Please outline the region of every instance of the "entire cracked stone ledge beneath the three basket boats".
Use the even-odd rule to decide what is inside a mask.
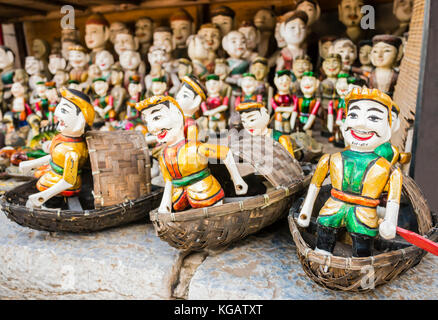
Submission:
[[[367,294],[319,287],[286,219],[221,252],[185,257],[140,224],[95,234],[40,232],[0,215],[2,299],[436,299],[438,257]]]

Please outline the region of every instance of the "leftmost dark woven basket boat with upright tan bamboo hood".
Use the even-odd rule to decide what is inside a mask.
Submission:
[[[6,216],[32,229],[74,233],[147,221],[148,212],[160,204],[163,189],[150,183],[150,157],[142,134],[90,131],[86,141],[90,163],[82,173],[83,210],[68,210],[60,197],[49,200],[50,208],[27,208],[28,196],[38,192],[34,179],[2,196]]]

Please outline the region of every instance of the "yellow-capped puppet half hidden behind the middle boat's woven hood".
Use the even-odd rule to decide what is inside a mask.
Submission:
[[[280,131],[269,129],[268,109],[261,102],[244,102],[236,107],[240,113],[242,125],[252,136],[270,136],[278,141],[295,158],[292,138]]]

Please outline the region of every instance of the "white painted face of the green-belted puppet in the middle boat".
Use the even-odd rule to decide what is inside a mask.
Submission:
[[[184,136],[184,118],[172,103],[158,104],[145,109],[142,119],[148,131],[157,137],[159,143],[172,145]]]

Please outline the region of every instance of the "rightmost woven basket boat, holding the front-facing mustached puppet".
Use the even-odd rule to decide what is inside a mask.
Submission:
[[[290,232],[297,247],[298,258],[306,274],[319,285],[333,290],[365,292],[388,283],[417,265],[426,251],[396,236],[393,240],[377,237],[374,255],[354,258],[348,240],[339,240],[331,257],[316,253],[316,217],[330,196],[330,186],[323,186],[315,204],[308,228],[301,228],[295,219],[304,200],[294,203],[288,217]],[[403,177],[402,200],[398,225],[438,241],[438,217],[431,214],[426,200],[414,180]],[[346,233],[344,234],[344,236]],[[342,238],[342,236],[341,236]],[[348,237],[347,237],[348,238]]]

